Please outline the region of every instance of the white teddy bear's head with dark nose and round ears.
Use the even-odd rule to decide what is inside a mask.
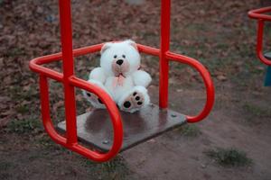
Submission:
[[[100,67],[108,76],[128,76],[140,67],[140,55],[133,40],[107,42],[100,54]]]

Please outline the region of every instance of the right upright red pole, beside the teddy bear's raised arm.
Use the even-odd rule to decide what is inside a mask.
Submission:
[[[161,1],[161,39],[160,39],[160,79],[159,79],[159,106],[168,106],[168,74],[169,59],[166,53],[170,49],[171,0]]]

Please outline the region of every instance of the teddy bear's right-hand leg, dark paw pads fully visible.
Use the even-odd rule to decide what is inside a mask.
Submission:
[[[135,86],[120,98],[117,105],[120,110],[133,113],[149,103],[150,97],[145,86]]]

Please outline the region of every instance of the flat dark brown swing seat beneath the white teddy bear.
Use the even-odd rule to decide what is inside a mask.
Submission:
[[[185,115],[150,104],[135,112],[120,112],[123,122],[123,144],[120,151],[152,139],[167,130],[173,130],[186,122]],[[94,109],[77,117],[78,138],[81,142],[101,152],[112,147],[113,127],[107,110]],[[66,121],[58,124],[58,130],[66,132]]]

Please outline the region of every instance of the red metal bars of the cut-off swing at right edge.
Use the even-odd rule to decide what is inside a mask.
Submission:
[[[264,26],[265,22],[271,21],[271,15],[266,13],[271,12],[270,7],[264,7],[256,10],[251,10],[248,12],[248,16],[253,19],[257,19],[257,57],[266,65],[271,66],[271,61],[268,60],[263,54],[263,36],[264,36]]]

